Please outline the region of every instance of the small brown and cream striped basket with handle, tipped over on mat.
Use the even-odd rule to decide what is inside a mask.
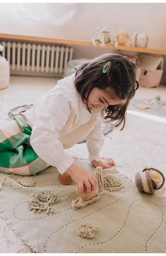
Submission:
[[[165,177],[158,169],[145,168],[136,173],[136,187],[141,192],[153,194],[165,184]]]

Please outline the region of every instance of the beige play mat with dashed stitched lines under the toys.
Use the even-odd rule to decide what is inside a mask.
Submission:
[[[87,160],[76,163],[94,171]],[[71,208],[77,198],[75,184],[59,184],[54,167],[32,177],[35,187],[23,187],[17,175],[6,177],[0,191],[1,217],[25,244],[25,252],[166,252],[165,199],[140,193],[134,182],[115,169],[103,171],[104,177],[110,174],[123,187],[104,190],[99,201],[78,210]],[[31,193],[48,190],[59,195],[59,202],[52,206],[54,213],[29,211]],[[97,228],[95,238],[77,235],[77,227],[84,222]]]

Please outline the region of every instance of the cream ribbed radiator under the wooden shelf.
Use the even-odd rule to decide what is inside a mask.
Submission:
[[[2,56],[10,64],[11,74],[62,77],[73,48],[39,43],[0,41]]]

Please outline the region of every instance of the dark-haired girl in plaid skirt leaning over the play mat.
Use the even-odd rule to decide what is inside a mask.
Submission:
[[[84,62],[59,80],[32,108],[0,129],[0,171],[35,175],[49,165],[69,174],[79,191],[95,189],[96,179],[78,167],[65,149],[86,138],[94,167],[114,166],[102,159],[102,118],[124,128],[129,101],[138,89],[136,64],[118,54]],[[122,129],[121,128],[121,129]]]

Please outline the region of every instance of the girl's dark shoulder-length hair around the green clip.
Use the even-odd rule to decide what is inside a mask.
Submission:
[[[102,69],[107,62],[110,62],[109,68],[107,73],[103,73]],[[124,104],[109,105],[102,110],[102,118],[113,121],[115,127],[120,126],[121,123],[123,124],[121,130],[125,125],[126,108],[136,89],[138,89],[136,67],[136,62],[129,60],[128,57],[107,53],[93,60],[83,62],[76,69],[74,83],[87,108],[88,96],[95,87],[102,90],[107,89],[107,91],[112,88],[119,99],[125,100]],[[90,111],[89,108],[88,111]]]

